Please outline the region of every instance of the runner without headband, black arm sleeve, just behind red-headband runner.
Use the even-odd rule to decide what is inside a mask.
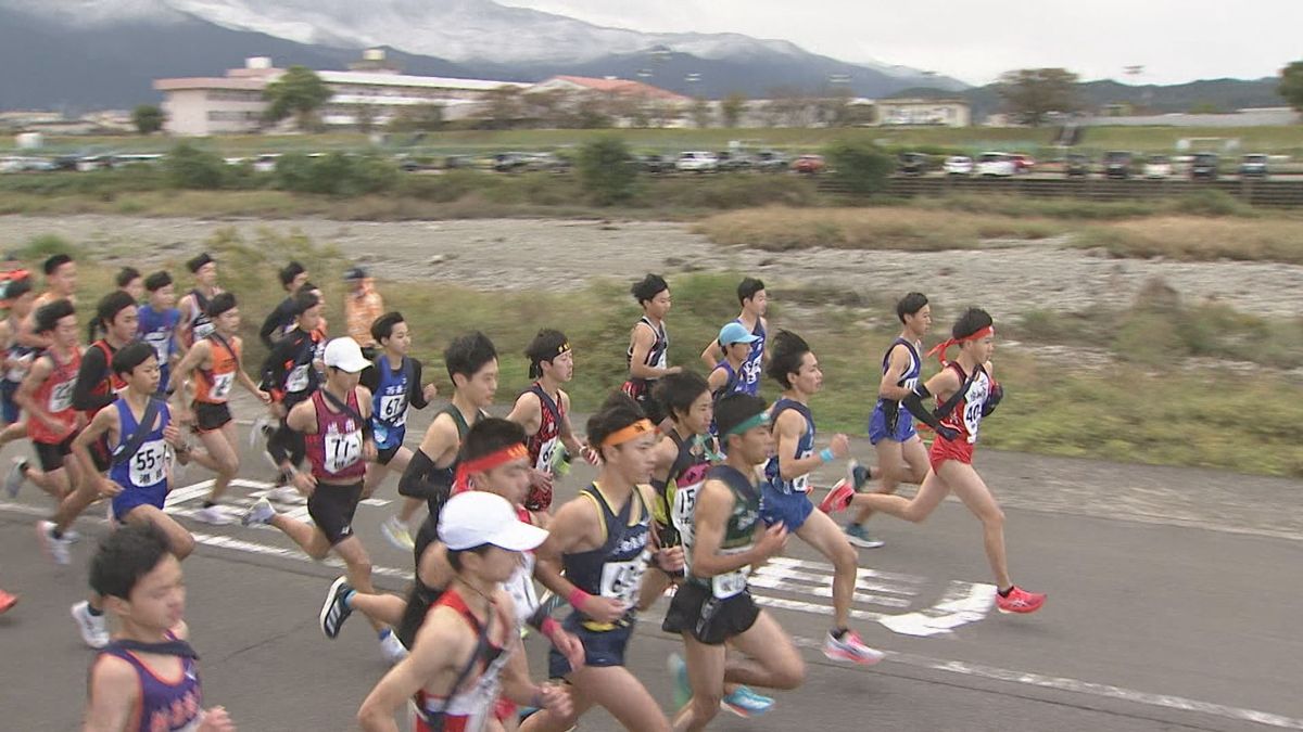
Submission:
[[[443,362],[452,380],[452,399],[434,415],[399,481],[400,495],[425,500],[430,511],[413,542],[417,561],[438,535],[439,508],[452,491],[461,440],[485,417],[498,392],[498,349],[483,333],[459,336],[443,352]]]

